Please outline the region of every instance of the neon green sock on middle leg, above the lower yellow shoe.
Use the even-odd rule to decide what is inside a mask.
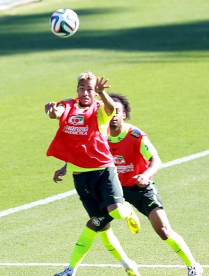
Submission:
[[[114,235],[111,227],[109,227],[109,229],[105,231],[98,232],[98,234],[100,235],[104,247],[107,248],[110,254],[112,254],[116,259],[120,261],[121,259],[126,262],[130,261],[130,259],[123,251],[118,238],[116,238],[116,236]]]

